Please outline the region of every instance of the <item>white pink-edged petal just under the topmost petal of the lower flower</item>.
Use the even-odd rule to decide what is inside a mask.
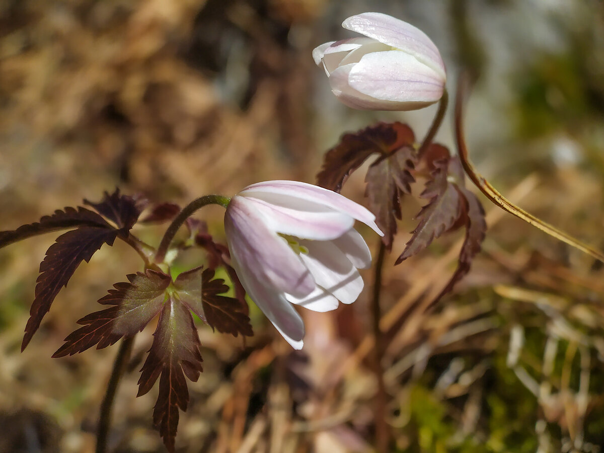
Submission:
[[[304,239],[330,240],[350,230],[355,219],[338,211],[312,212],[276,206],[258,198],[245,197],[265,217],[269,230]]]

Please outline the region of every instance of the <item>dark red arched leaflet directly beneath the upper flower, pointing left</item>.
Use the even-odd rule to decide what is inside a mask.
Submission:
[[[379,123],[342,136],[330,149],[316,175],[317,184],[339,192],[350,174],[373,153],[388,156],[402,147],[413,147],[413,130],[403,123]]]

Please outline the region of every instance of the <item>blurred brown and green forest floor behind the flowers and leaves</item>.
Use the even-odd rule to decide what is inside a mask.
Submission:
[[[116,186],[186,204],[266,179],[314,182],[342,133],[379,120],[406,121],[421,138],[434,107],[347,109],[312,61],[320,43],[352,36],[340,24],[364,11],[431,36],[452,94],[462,68],[477,77],[467,142],[495,187],[604,247],[604,5],[596,0],[2,0],[0,230]],[[451,119],[437,141],[454,149]],[[344,193],[362,203],[360,173]],[[428,313],[454,270],[461,233],[390,266],[420,208],[406,201],[382,300],[393,451],[602,451],[602,264],[483,203],[483,252]],[[222,208],[199,216],[223,236]],[[135,234],[156,243],[162,231]],[[51,355],[113,283],[141,268],[123,244],[103,247],[20,353],[53,239],[0,250],[2,453],[94,451],[117,347]],[[200,326],[204,373],[189,384],[178,451],[372,451],[371,279],[365,274],[352,306],[303,313],[301,352],[253,304],[255,336],[245,344]],[[118,390],[114,452],[164,451],[152,428],[156,393],[135,398],[152,332],[137,336]]]

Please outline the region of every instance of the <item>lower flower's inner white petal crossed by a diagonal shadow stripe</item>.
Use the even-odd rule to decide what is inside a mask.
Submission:
[[[301,240],[308,249],[300,258],[315,278],[317,286],[344,304],[353,303],[363,289],[363,279],[355,266],[332,241]]]

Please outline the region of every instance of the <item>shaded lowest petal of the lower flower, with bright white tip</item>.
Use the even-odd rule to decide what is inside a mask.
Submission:
[[[294,349],[302,349],[304,322],[284,294],[260,283],[253,274],[246,272],[248,269],[244,270],[236,259],[232,259],[231,263],[251,300]]]

